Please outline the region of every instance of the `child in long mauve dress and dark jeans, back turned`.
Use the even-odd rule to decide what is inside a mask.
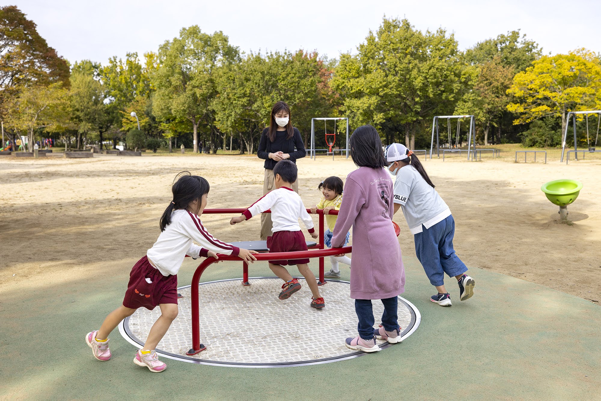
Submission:
[[[404,292],[405,271],[401,248],[392,225],[392,179],[382,141],[370,125],[359,127],[349,140],[350,155],[359,167],[346,177],[332,248],[343,246],[353,227],[353,259],[350,265],[350,298],[355,299],[359,335],[346,346],[365,352],[379,351],[376,338],[401,341],[398,295]],[[384,305],[382,326],[374,328],[372,299]]]

